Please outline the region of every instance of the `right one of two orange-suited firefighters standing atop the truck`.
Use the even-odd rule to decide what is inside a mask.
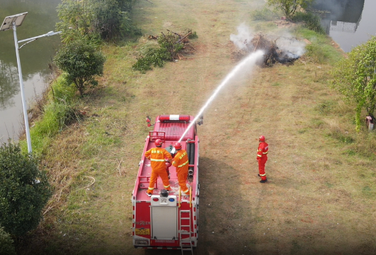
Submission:
[[[188,178],[188,155],[186,150],[181,149],[181,143],[175,143],[173,148],[178,151],[173,158],[172,165],[176,167],[176,175],[178,175],[178,183],[181,188],[181,195],[188,195],[188,187],[186,181]]]

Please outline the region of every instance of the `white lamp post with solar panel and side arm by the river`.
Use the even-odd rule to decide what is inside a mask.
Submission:
[[[32,148],[31,148],[30,129],[29,129],[29,126],[28,126],[27,104],[26,104],[25,93],[23,92],[22,70],[21,70],[21,62],[20,62],[20,56],[19,56],[18,50],[21,49],[23,47],[23,45],[26,45],[27,43],[31,43],[33,40],[36,40],[38,38],[42,38],[42,37],[45,37],[45,36],[57,35],[58,33],[61,33],[61,31],[59,31],[59,32],[50,31],[50,32],[45,33],[44,35],[41,35],[41,36],[36,36],[36,37],[33,37],[33,38],[24,39],[24,40],[17,40],[16,28],[18,26],[22,25],[23,19],[26,17],[26,14],[27,14],[27,12],[24,12],[24,13],[18,13],[16,15],[5,17],[4,22],[1,24],[0,31],[6,31],[6,30],[10,30],[10,29],[13,28],[14,45],[16,47],[16,57],[17,57],[17,66],[18,66],[18,77],[19,77],[19,80],[20,80],[20,88],[21,88],[23,119],[25,121],[25,129],[26,129],[26,141],[28,143],[28,153],[31,153]],[[26,43],[21,45],[21,47],[18,47],[18,43],[23,43],[23,42],[26,42]]]

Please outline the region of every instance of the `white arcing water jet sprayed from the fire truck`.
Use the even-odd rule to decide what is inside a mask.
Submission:
[[[237,64],[237,66],[235,66],[235,68],[225,77],[225,80],[223,80],[220,85],[217,87],[217,89],[215,89],[215,92],[212,94],[212,96],[208,99],[208,101],[206,101],[205,105],[200,109],[200,112],[198,112],[198,114],[195,116],[195,119],[193,119],[193,121],[190,122],[189,126],[187,127],[186,131],[184,131],[183,135],[181,136],[181,138],[179,139],[179,142],[181,142],[181,140],[183,139],[183,137],[187,134],[188,130],[190,129],[190,127],[195,124],[195,121],[197,121],[198,117],[203,114],[204,110],[206,107],[208,107],[208,105],[210,104],[210,102],[213,101],[213,99],[215,98],[215,96],[218,94],[218,92],[220,92],[220,89],[222,89],[222,87],[224,87],[227,82],[232,78],[234,77],[234,75],[242,69],[242,67],[245,67],[245,65],[247,64],[250,64],[250,65],[254,65],[256,63],[256,61],[262,57],[262,55],[264,54],[264,52],[262,50],[257,50],[256,52],[250,54],[247,58],[245,58],[244,60],[242,60],[242,62],[240,62],[239,64]]]

